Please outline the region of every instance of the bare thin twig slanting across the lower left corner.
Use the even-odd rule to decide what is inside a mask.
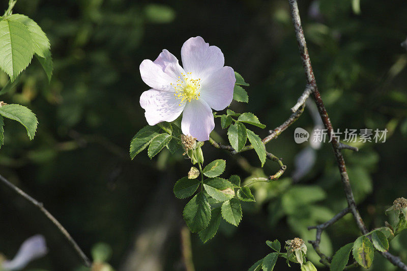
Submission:
[[[40,212],[42,212],[49,220],[50,222],[52,222],[52,224],[62,233],[62,235],[66,238],[66,240],[68,241],[68,243],[70,244],[70,246],[74,249],[74,251],[76,252],[77,256],[81,259],[81,261],[83,262],[83,264],[85,266],[90,267],[91,266],[91,262],[88,259],[88,257],[86,257],[86,255],[83,253],[83,251],[79,248],[78,244],[76,244],[75,240],[72,238],[72,236],[68,233],[68,231],[61,225],[61,223],[59,221],[57,221],[49,212],[47,209],[44,208],[43,204],[41,202],[38,202],[37,200],[35,200],[34,198],[32,198],[31,196],[27,195],[24,191],[22,191],[21,189],[19,189],[18,187],[16,187],[15,185],[13,185],[12,183],[10,183],[5,177],[3,177],[2,175],[0,175],[0,182],[3,185],[6,185],[8,188],[10,188],[11,190],[13,190],[13,192],[15,192],[19,197],[24,198],[26,201],[30,202],[31,204],[33,204],[34,206],[36,206]]]

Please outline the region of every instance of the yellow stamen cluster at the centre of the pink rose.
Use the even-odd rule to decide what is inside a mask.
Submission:
[[[181,99],[179,106],[185,102],[191,102],[192,100],[198,100],[200,96],[200,78],[192,79],[192,73],[183,74],[178,76],[178,80],[175,84],[171,83],[172,87],[175,89],[175,98]]]

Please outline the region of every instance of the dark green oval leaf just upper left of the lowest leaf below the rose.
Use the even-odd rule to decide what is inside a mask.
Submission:
[[[184,208],[184,219],[192,232],[198,232],[208,227],[211,221],[211,205],[207,197],[199,192]]]

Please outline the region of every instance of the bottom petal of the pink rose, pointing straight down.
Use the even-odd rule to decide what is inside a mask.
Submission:
[[[209,139],[215,128],[211,107],[201,99],[186,102],[182,116],[181,130],[185,135],[196,137],[198,141]]]

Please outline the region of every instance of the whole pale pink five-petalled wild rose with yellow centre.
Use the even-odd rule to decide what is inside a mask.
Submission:
[[[184,43],[181,59],[184,67],[165,49],[154,62],[144,59],[141,79],[152,89],[141,94],[140,105],[149,125],[172,122],[183,113],[183,134],[205,141],[215,127],[212,109],[223,110],[232,101],[235,72],[224,66],[222,51],[201,37]]]

